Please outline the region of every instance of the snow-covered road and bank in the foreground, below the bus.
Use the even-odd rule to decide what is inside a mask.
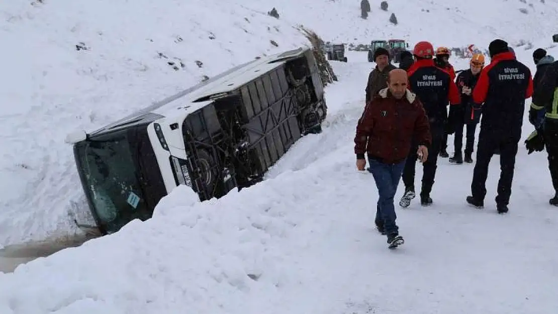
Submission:
[[[518,51],[532,65],[529,55]],[[491,207],[498,157],[484,210],[464,201],[473,165],[441,159],[434,205],[397,209],[406,243],[386,249],[373,178],[354,165],[365,58],[333,62],[324,132],[297,142],[266,181],[203,203],[178,187],[146,222],[0,274],[0,313],[554,312],[558,211],[545,153],[519,149],[507,215]]]

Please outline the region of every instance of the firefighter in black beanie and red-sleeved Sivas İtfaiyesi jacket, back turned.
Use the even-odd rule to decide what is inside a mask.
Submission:
[[[516,60],[508,43],[493,40],[488,46],[490,64],[481,72],[473,90],[475,106],[482,104],[477,163],[471,183],[472,195],[466,201],[475,207],[484,206],[488,165],[499,148],[500,180],[496,209],[499,214],[508,212],[512,194],[513,170],[516,164],[517,143],[521,138],[525,99],[533,94],[533,80],[527,66]]]

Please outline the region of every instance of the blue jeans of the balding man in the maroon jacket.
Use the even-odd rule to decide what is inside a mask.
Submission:
[[[393,205],[393,197],[405,167],[405,161],[390,165],[368,158],[368,171],[374,176],[378,187],[378,206],[376,209],[376,225],[383,226],[386,234],[398,234],[399,228],[395,223],[397,215]]]

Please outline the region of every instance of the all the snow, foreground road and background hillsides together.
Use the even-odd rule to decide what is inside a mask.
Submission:
[[[277,5],[268,0],[3,2],[0,34],[10,44],[0,52],[0,247],[68,232],[70,201],[82,194],[68,132],[305,44],[294,24],[344,42],[486,47],[503,37],[549,47],[558,14],[552,0],[390,1],[389,12],[371,4],[363,21],[354,0],[285,0],[280,20],[265,15]],[[397,27],[387,22],[391,12]],[[532,49],[516,52],[534,70]],[[373,178],[354,169],[354,128],[373,64],[364,52],[348,56],[348,64],[333,62],[340,81],[326,88],[324,132],[297,142],[266,181],[203,203],[179,187],[151,220],[0,273],[0,313],[554,312],[558,211],[547,205],[546,153],[519,149],[504,216],[490,207],[497,156],[482,211],[464,204],[473,165],[441,159],[435,204],[397,209],[406,243],[387,250],[373,228]],[[523,138],[531,131],[526,122]],[[417,166],[417,182],[421,173]],[[0,268],[27,259],[0,257]]]

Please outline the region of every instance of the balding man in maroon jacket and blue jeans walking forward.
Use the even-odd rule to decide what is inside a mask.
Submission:
[[[364,154],[368,154],[368,171],[374,176],[379,194],[375,222],[378,231],[387,235],[389,248],[403,244],[395,223],[393,197],[411,149],[411,140],[415,136],[419,142],[417,154],[421,162],[427,160],[427,147],[432,141],[422,103],[407,85],[405,70],[390,71],[388,88],[380,90],[367,104],[354,138],[358,170],[364,171]]]

